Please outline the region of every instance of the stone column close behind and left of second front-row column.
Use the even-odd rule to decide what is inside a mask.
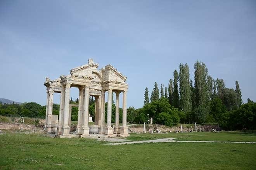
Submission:
[[[79,87],[77,134],[82,134],[83,127],[83,91],[85,87]]]

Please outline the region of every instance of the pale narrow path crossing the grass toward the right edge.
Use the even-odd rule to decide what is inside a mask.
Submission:
[[[175,141],[175,138],[163,138],[163,139],[155,139],[155,140],[147,140],[147,141],[130,141],[130,142],[120,142],[120,143],[106,143],[102,145],[128,145],[135,143],[164,143],[164,142],[198,142],[198,143],[249,143],[256,144],[256,142],[232,142],[232,141]]]

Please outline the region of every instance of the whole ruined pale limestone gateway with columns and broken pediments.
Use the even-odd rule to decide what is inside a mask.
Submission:
[[[73,68],[70,75],[61,75],[56,80],[46,78],[44,85],[47,91],[47,107],[45,130],[59,137],[70,137],[71,107],[78,106],[78,125],[76,134],[80,136],[89,133],[100,133],[108,136],[129,136],[126,126],[126,96],[127,78],[116,68],[107,65],[97,70],[99,64],[88,59],[88,64]],[[79,104],[69,104],[70,88],[79,88]],[[105,126],[105,93],[107,95],[107,127]],[[116,94],[116,121],[111,127],[112,92]],[[61,93],[59,119],[52,115],[54,93]],[[119,126],[119,94],[123,93],[123,125]],[[95,97],[95,125],[88,125],[89,97]],[[114,130],[114,131],[113,131]]]

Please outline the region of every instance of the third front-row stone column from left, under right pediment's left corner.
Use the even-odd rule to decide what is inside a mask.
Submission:
[[[105,134],[112,135],[113,128],[111,127],[111,112],[112,112],[112,89],[107,92],[107,128]]]

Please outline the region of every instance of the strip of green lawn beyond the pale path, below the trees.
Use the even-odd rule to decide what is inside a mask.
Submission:
[[[126,139],[132,141],[152,140],[160,138],[175,138],[180,141],[244,141],[244,142],[256,142],[256,134],[252,133],[231,133],[231,132],[197,132],[197,133],[140,133],[130,134],[130,137]]]

